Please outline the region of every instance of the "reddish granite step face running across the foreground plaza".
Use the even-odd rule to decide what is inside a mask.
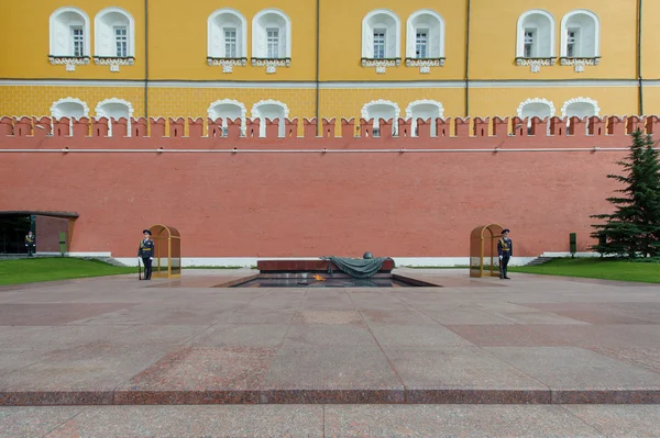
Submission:
[[[0,391],[0,406],[254,404],[660,404],[660,389],[205,389]]]

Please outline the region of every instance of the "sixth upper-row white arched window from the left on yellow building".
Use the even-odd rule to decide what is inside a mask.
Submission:
[[[430,67],[444,65],[444,19],[438,12],[422,9],[406,23],[406,66],[430,72]]]

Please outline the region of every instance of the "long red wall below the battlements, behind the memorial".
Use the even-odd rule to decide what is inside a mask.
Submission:
[[[565,125],[564,125],[565,127]],[[0,153],[0,211],[76,212],[70,251],[136,254],[144,227],[173,225],[184,257],[321,255],[461,257],[481,224],[512,228],[517,256],[587,250],[590,214],[610,211],[607,173],[625,132],[597,137],[86,138],[0,136],[0,149],[148,149],[145,153]],[[315,153],[164,153],[170,149]],[[377,153],[382,149],[501,153]],[[321,149],[373,149],[322,154]],[[38,229],[38,228],[37,228]],[[41,248],[40,248],[41,249]]]

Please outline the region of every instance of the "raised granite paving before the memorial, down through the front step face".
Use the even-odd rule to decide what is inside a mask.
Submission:
[[[223,289],[204,271],[1,290],[0,315],[31,325],[0,321],[0,404],[660,404],[660,288],[449,271],[436,289]]]

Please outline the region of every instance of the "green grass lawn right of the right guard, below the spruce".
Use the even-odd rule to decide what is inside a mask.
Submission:
[[[561,258],[529,267],[510,267],[512,272],[547,276],[582,277],[588,279],[640,281],[660,283],[660,263],[610,258]]]

